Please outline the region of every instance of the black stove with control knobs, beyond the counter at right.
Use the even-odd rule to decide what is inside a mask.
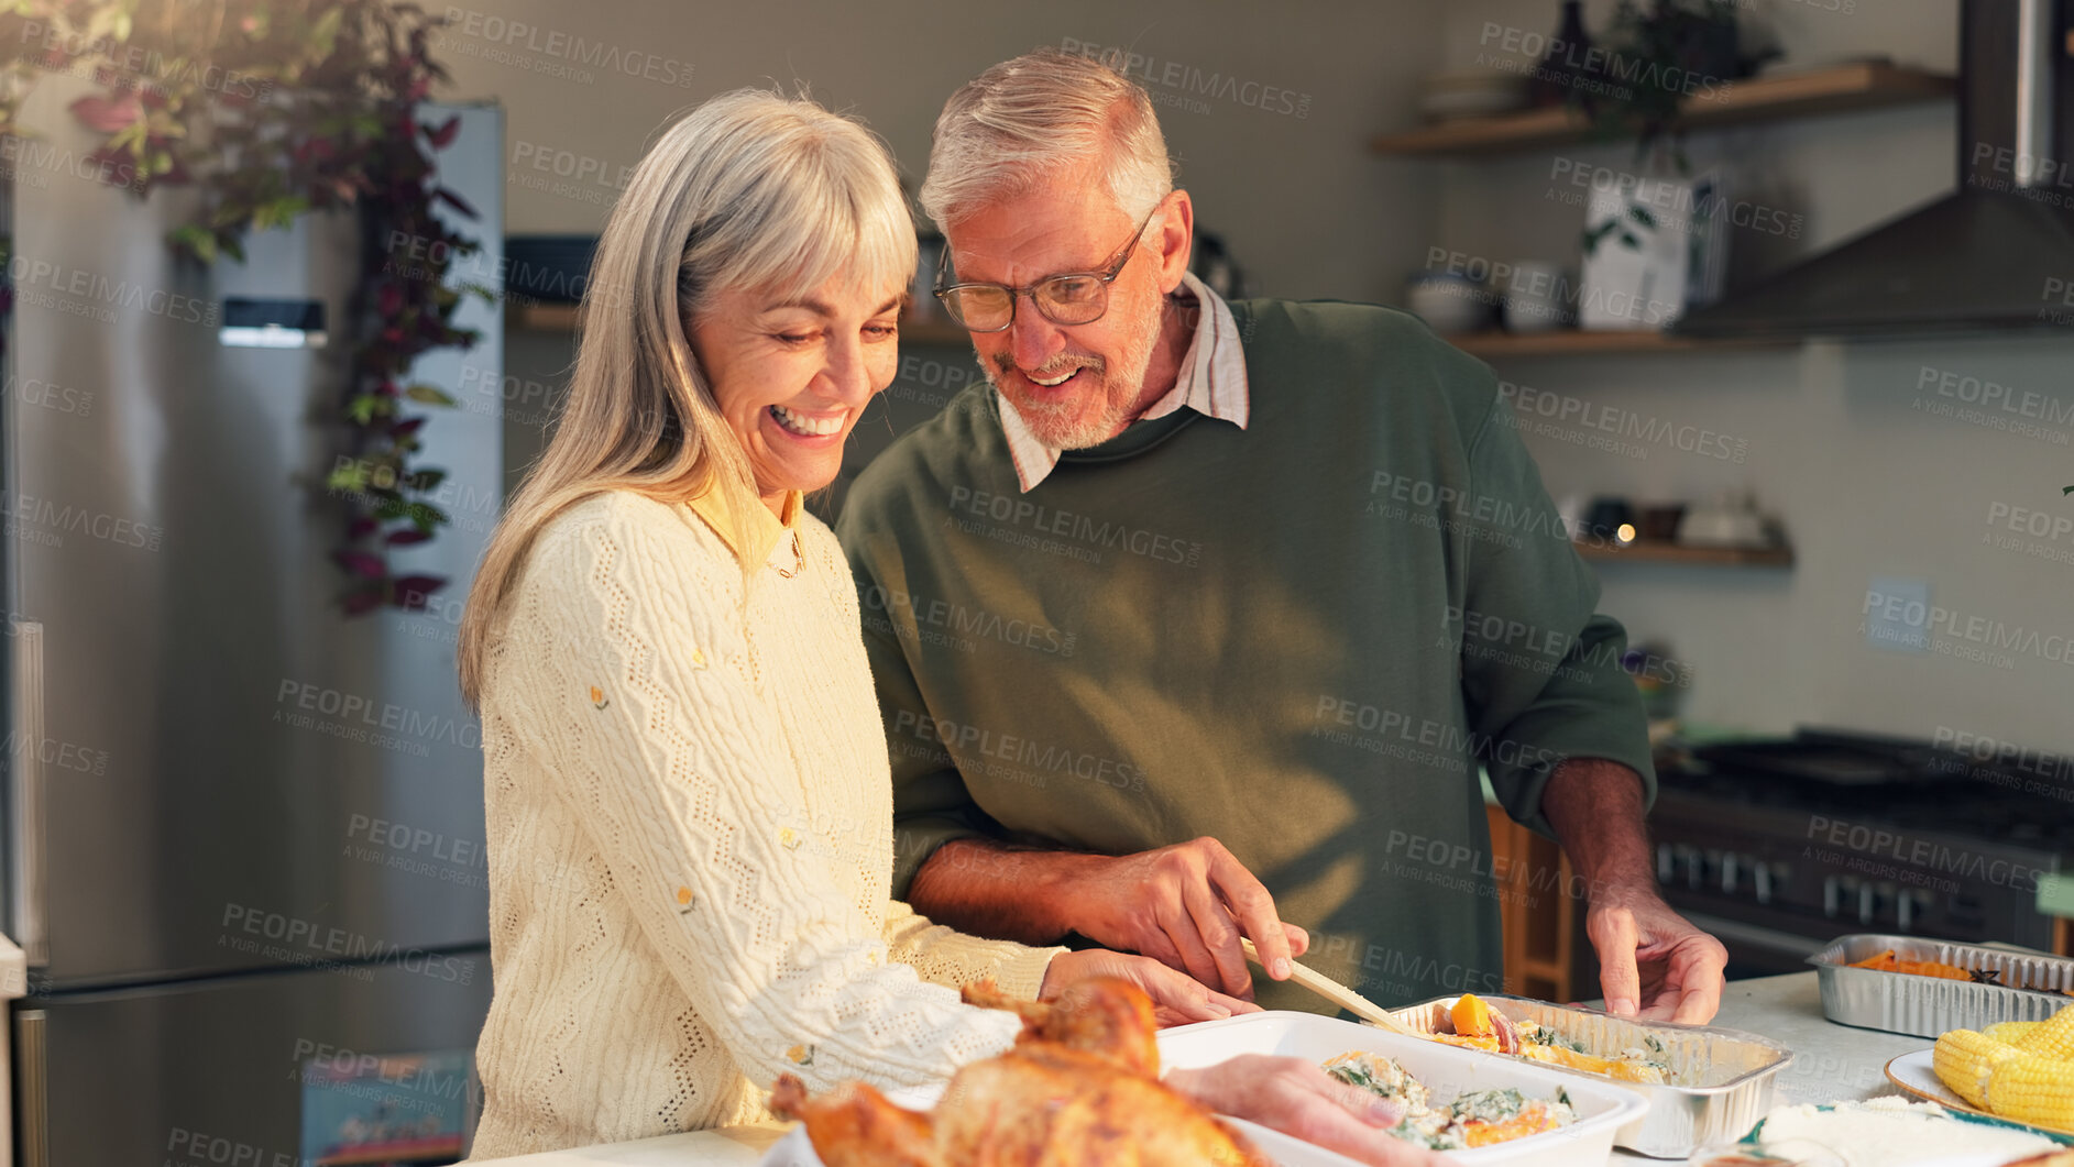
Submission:
[[[2037,757],[1833,732],[1672,752],[1657,881],[1742,974],[1858,931],[2049,947],[2037,885],[2074,866],[2074,761]]]

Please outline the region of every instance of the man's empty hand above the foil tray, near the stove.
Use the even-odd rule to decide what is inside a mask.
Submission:
[[[1653,889],[1595,893],[1585,935],[1609,1014],[1699,1026],[1721,1009],[1728,949]]]

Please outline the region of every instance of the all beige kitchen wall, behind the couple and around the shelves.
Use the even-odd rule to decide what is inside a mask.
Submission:
[[[1750,10],[1777,31],[1794,60],[1883,52],[1954,66],[1956,0],[1854,0],[1850,12],[1831,10],[1846,2],[1753,0]],[[1595,27],[1609,6],[1589,4]],[[1487,50],[1479,46],[1485,21],[1553,31],[1553,0],[1186,8],[1091,0],[1014,8],[830,2],[697,10],[633,0],[485,0],[473,10],[481,23],[516,19],[691,64],[689,87],[604,70],[579,83],[539,75],[558,60],[550,54],[521,52],[531,68],[489,60],[483,54],[496,46],[481,25],[473,37],[450,33],[444,58],[454,70],[452,93],[502,99],[510,110],[508,158],[531,151],[512,170],[510,232],[593,232],[612,195],[610,178],[541,189],[554,176],[531,170],[533,158],[568,151],[616,174],[672,112],[736,85],[807,79],[823,102],[865,114],[919,176],[929,124],[958,81],[998,58],[1068,37],[1128,46],[1153,62],[1155,75],[1172,62],[1195,79],[1215,73],[1311,95],[1305,118],[1217,97],[1203,99],[1207,112],[1164,106],[1203,224],[1228,236],[1269,294],[1394,303],[1433,247],[1493,259],[1572,259],[1582,214],[1549,197],[1560,187],[1555,160],[1632,166],[1626,147],[1477,164],[1383,162],[1363,149],[1369,135],[1412,122],[1410,95],[1423,73],[1477,66],[1477,54]],[[1153,89],[1168,102],[1186,97]],[[1744,197],[1800,220],[1798,238],[1736,232],[1738,265],[1748,274],[1947,191],[1954,137],[1952,106],[1931,104],[1705,135],[1694,139],[1692,158],[1726,168]],[[1558,495],[1670,500],[1748,487],[1786,520],[1800,556],[1792,572],[1601,572],[1605,607],[1636,636],[1667,641],[1697,670],[1688,694],[1697,719],[1910,736],[1945,725],[2074,750],[2074,721],[2064,715],[2074,670],[2043,655],[2045,636],[2074,632],[2074,566],[1999,549],[1987,524],[1997,502],[2068,514],[2074,504],[2059,500],[2059,487],[2074,483],[2068,435],[2053,431],[2041,442],[1912,408],[1923,369],[2010,383],[2045,394],[2053,408],[2074,408],[2064,388],[2070,359],[2068,342],[1987,338],[1520,361],[1500,375],[1744,444],[1738,466],[1676,448],[1634,458],[1531,437]],[[548,386],[568,361],[568,344],[512,334],[508,361],[510,375]],[[940,379],[960,363],[969,354],[913,352],[896,383],[913,392],[890,402],[896,423],[933,408],[937,390],[919,386],[923,373]],[[1939,400],[1935,392],[1927,398]],[[529,419],[510,433],[516,471],[527,444],[537,442],[537,425]],[[1574,427],[1570,433],[1580,435]],[[2074,543],[2062,541],[2059,549],[2074,551]],[[1995,624],[2001,636],[2037,632],[2039,647],[2014,653],[2010,667],[1871,649],[1858,632],[1858,609],[1879,574],[1929,580],[1933,603]],[[1952,647],[1968,645],[1960,638]]]

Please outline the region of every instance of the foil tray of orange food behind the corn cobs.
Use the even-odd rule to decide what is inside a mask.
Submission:
[[[2001,972],[2003,985],[1943,980],[1912,972],[1846,968],[1887,949],[1902,960],[1935,960]],[[2074,1005],[2074,960],[2001,947],[1856,933],[1829,941],[1809,958],[1821,980],[1821,1012],[1831,1022],[1935,1038],[1945,1030],[1977,1030],[1995,1022],[2043,1022]]]

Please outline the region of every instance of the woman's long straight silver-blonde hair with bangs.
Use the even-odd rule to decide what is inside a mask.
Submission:
[[[630,489],[761,506],[740,442],[686,340],[724,290],[803,296],[830,280],[904,288],[915,224],[886,147],[821,106],[759,89],[684,114],[635,168],[583,294],[577,367],[554,437],[498,520],[460,622],[475,709],[492,628],[556,514]]]

